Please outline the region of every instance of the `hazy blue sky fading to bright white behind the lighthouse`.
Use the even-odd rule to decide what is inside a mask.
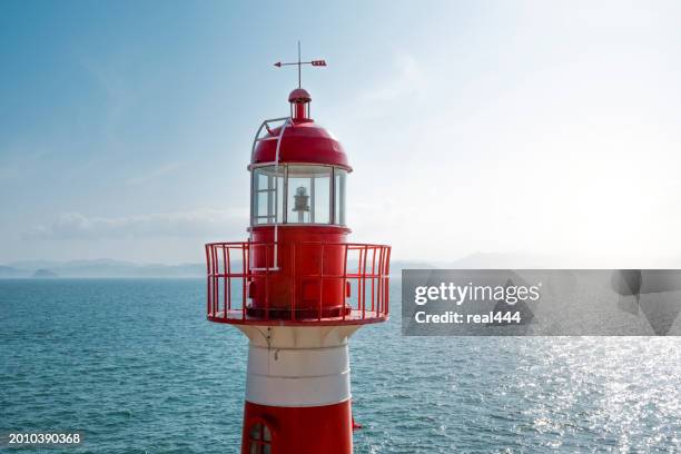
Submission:
[[[393,257],[681,266],[681,3],[0,2],[0,264],[203,260],[243,240],[253,136],[343,142]]]

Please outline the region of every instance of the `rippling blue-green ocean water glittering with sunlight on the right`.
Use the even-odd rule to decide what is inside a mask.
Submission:
[[[681,451],[681,338],[403,337],[351,343],[357,453]],[[246,339],[205,319],[203,279],[0,280],[0,451],[236,453]],[[8,448],[9,432],[80,431]]]

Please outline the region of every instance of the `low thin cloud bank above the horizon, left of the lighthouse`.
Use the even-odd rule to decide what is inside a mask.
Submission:
[[[248,214],[240,210],[201,208],[189,211],[136,215],[127,217],[88,217],[63,213],[52,224],[37,226],[26,239],[129,239],[151,237],[233,236],[243,233]]]

